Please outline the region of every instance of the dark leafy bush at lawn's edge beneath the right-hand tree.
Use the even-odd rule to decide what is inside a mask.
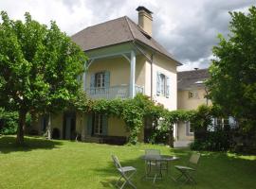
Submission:
[[[218,107],[200,106],[192,117],[194,129],[193,150],[235,151],[254,153],[256,151],[256,129],[245,127],[247,120],[240,120],[239,124],[212,125],[213,117],[228,117]],[[248,123],[251,126],[251,123]],[[243,127],[244,126],[244,127]],[[211,130],[211,131],[210,131]]]

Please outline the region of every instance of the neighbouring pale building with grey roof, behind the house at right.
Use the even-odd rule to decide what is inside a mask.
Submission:
[[[210,105],[206,97],[204,81],[209,77],[208,69],[195,69],[177,73],[177,109],[196,110],[200,105]],[[174,129],[174,146],[188,146],[193,141],[190,122],[180,122]]]

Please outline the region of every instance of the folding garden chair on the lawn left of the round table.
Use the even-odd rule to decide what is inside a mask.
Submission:
[[[119,189],[122,189],[126,184],[129,184],[130,186],[136,189],[136,186],[132,183],[131,178],[134,176],[137,169],[133,166],[121,166],[118,157],[115,155],[112,155],[112,160],[120,174],[120,178],[117,181],[116,186],[119,187]],[[121,179],[123,179],[124,182],[121,186],[119,186],[119,182]]]

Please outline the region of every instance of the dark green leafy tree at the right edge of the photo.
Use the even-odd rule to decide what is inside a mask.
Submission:
[[[229,12],[229,37],[213,47],[207,86],[213,104],[243,122],[256,123],[256,8]],[[256,128],[256,127],[255,127]]]

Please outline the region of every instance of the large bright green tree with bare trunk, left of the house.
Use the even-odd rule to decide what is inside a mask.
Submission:
[[[29,13],[24,23],[1,16],[0,107],[18,112],[23,144],[27,112],[61,111],[77,96],[86,57],[55,22],[41,25]]]

